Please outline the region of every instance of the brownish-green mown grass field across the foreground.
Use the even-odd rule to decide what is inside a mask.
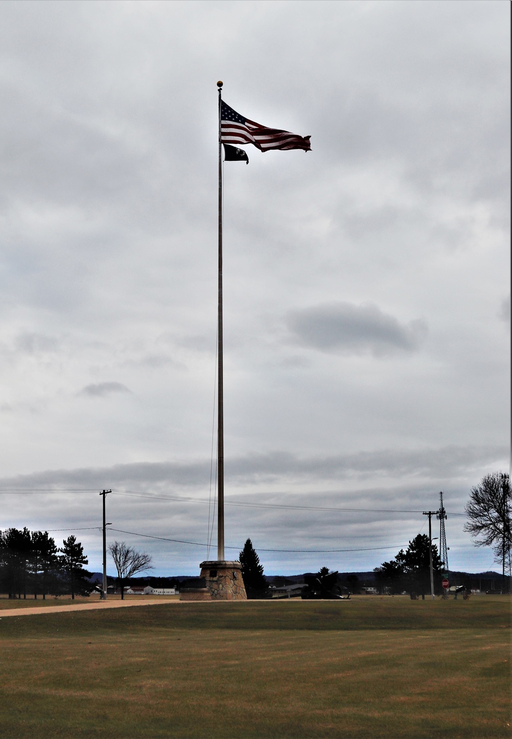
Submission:
[[[0,614],[0,734],[510,737],[510,624],[505,596]]]

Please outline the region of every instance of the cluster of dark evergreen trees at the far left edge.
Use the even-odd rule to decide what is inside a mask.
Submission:
[[[89,595],[92,586],[83,569],[89,560],[76,537],[63,539],[61,548],[47,531],[7,528],[0,531],[0,592],[9,598],[47,595]]]

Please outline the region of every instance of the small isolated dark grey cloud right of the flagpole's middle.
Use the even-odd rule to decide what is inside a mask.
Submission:
[[[376,305],[347,302],[293,311],[287,317],[287,326],[307,347],[323,352],[371,351],[376,356],[414,352],[427,332],[426,322],[421,319],[400,324]]]

